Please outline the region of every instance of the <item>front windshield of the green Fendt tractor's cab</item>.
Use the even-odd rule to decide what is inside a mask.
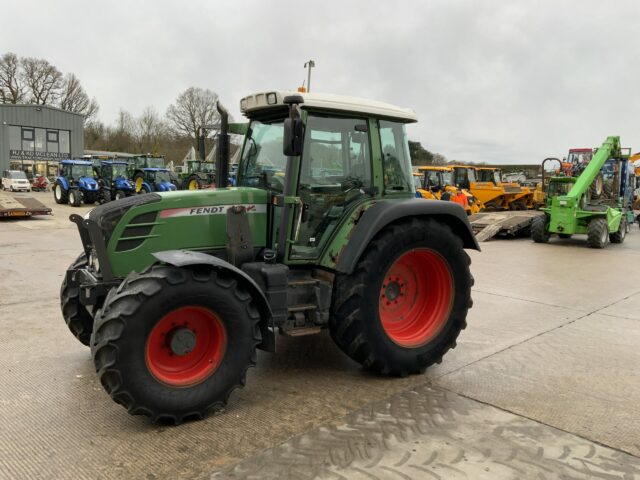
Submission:
[[[238,168],[238,186],[282,192],[286,158],[282,153],[283,120],[253,120],[245,137]]]

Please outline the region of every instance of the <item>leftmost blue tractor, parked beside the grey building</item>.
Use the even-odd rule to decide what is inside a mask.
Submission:
[[[56,203],[79,207],[82,202],[95,203],[100,188],[93,173],[93,164],[87,160],[61,160],[58,176],[53,184]]]

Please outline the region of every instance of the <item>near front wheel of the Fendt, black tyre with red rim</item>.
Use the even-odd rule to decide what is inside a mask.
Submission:
[[[224,407],[244,386],[259,321],[251,295],[229,273],[154,265],[111,290],[91,353],[114,401],[178,424]]]

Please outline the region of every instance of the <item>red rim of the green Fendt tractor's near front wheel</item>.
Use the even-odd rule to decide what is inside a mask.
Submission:
[[[176,350],[176,335],[186,335],[192,348]],[[195,385],[217,370],[226,348],[227,332],[215,313],[202,307],[181,307],[162,317],[151,330],[147,367],[160,382],[176,387]]]

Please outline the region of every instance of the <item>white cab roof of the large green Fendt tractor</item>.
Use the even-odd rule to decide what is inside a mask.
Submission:
[[[337,110],[344,112],[364,113],[376,117],[393,118],[404,123],[418,121],[416,113],[408,108],[400,108],[389,103],[367,100],[345,95],[331,93],[310,93],[277,91],[259,92],[248,95],[240,100],[240,111],[250,117],[252,113],[273,108],[286,107],[283,99],[288,95],[300,95],[304,103],[300,108],[313,108],[323,110]]]

